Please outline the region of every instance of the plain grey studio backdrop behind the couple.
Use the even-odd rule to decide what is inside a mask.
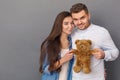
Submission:
[[[120,0],[0,0],[0,80],[40,80],[39,48],[56,15],[83,2],[92,22],[120,47]],[[120,58],[106,62],[107,80],[120,80]]]

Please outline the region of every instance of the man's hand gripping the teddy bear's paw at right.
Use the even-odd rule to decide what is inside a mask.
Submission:
[[[95,51],[92,53],[93,56],[97,59],[103,59],[105,57],[105,53],[103,50],[96,48]]]

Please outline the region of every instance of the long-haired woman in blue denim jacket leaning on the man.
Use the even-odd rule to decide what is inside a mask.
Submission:
[[[51,33],[41,45],[41,80],[70,80],[73,62],[70,34],[73,28],[71,14],[67,11],[59,13]]]

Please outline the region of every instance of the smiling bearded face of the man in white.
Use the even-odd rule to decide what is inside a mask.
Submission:
[[[72,13],[74,25],[80,30],[86,29],[90,25],[90,15],[84,10],[78,13]]]

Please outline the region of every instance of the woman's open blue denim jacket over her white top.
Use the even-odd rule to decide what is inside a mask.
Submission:
[[[70,35],[68,36],[68,40],[70,42],[69,49],[72,49],[72,40]],[[67,80],[72,80],[72,66],[73,66],[74,58],[72,58],[69,61],[69,67],[68,67],[68,74],[67,74]],[[49,62],[47,62],[47,58],[44,61],[43,65],[43,73],[41,76],[41,80],[58,80],[59,79],[59,73],[56,71],[49,72],[48,70]]]

